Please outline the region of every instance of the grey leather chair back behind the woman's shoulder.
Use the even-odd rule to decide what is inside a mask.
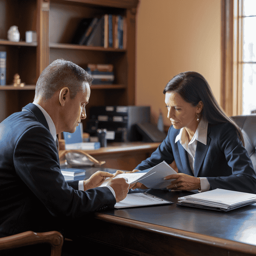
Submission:
[[[231,118],[242,130],[244,146],[252,160],[253,168],[256,172],[256,115],[232,116]]]

